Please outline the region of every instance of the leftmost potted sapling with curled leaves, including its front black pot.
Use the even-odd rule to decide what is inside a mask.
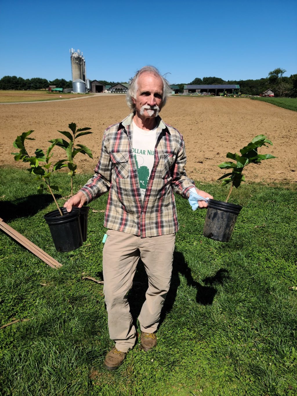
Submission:
[[[46,154],[43,150],[37,148],[34,155],[30,156],[25,148],[25,140],[35,140],[31,137],[33,130],[23,132],[17,136],[13,142],[13,147],[19,149],[19,152],[11,153],[14,155],[15,161],[28,162],[30,168],[27,170],[34,176],[34,180],[40,181],[38,194],[48,191],[57,206],[57,209],[47,213],[44,218],[49,225],[49,230],[57,251],[71,251],[82,246],[82,230],[80,226],[80,208],[72,208],[70,213],[66,208],[60,208],[54,195],[54,191],[59,191],[59,187],[51,185],[50,177],[53,172],[67,166],[64,164],[66,160],[59,160],[52,164],[52,150],[56,143],[53,142],[48,147]]]

